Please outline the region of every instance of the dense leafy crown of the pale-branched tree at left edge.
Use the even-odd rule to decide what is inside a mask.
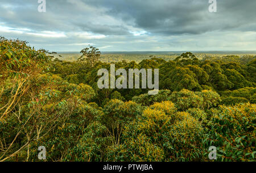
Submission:
[[[1,81],[7,77],[27,77],[46,69],[51,58],[46,53],[46,50],[28,47],[26,41],[0,37]]]

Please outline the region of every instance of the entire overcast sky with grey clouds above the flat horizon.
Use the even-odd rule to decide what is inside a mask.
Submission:
[[[256,50],[256,1],[0,0],[0,36],[80,51]]]

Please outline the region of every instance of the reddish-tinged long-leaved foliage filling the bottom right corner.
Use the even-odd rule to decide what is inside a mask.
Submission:
[[[208,145],[218,150],[218,161],[255,161],[255,104],[220,106],[213,116]]]

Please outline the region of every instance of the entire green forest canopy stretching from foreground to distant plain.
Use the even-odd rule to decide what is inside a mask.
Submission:
[[[91,51],[92,50],[92,51]],[[160,91],[99,89],[98,49],[52,60],[25,41],[0,43],[0,161],[255,161],[256,58],[115,62],[159,69]],[[239,59],[239,61],[238,61]]]

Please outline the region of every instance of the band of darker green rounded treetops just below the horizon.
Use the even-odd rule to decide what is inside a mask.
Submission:
[[[191,91],[201,91],[207,89],[227,96],[226,93],[233,90],[256,86],[255,62],[255,56],[226,56],[199,60],[194,54],[187,52],[177,56],[175,60],[165,61],[151,56],[150,59],[142,60],[138,64],[135,61],[126,62],[124,60],[115,62],[115,67],[126,70],[159,69],[159,86],[162,90],[180,91],[185,88]],[[92,86],[101,98],[96,99],[95,102],[101,105],[102,101],[104,102],[102,98],[106,100],[110,98],[101,93],[105,90],[97,88],[97,81],[100,78],[97,76],[97,71],[102,68],[109,70],[110,63],[98,61],[93,67],[89,66],[89,64],[78,61],[65,62],[55,59],[51,73],[58,74],[70,83],[86,83]],[[131,100],[133,96],[147,92],[142,89],[116,91],[120,92],[126,100]],[[237,96],[250,100],[243,95]]]

